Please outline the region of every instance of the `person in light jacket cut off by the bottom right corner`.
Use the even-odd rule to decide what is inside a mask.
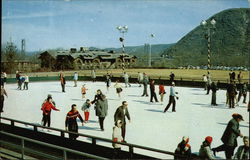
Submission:
[[[250,151],[249,137],[244,136],[243,143],[244,143],[244,145],[239,146],[237,152],[235,153],[234,159],[239,159],[239,160],[249,160],[250,159],[250,156],[249,156],[249,151]]]

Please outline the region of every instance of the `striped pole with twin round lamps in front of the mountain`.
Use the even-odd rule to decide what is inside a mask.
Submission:
[[[205,38],[207,39],[207,70],[211,67],[211,29],[215,29],[216,21],[212,19],[210,23],[208,23],[205,20],[201,21],[201,25],[207,29],[207,34],[205,35]]]

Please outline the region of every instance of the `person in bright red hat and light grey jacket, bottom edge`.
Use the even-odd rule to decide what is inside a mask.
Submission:
[[[211,150],[211,143],[213,141],[213,138],[210,136],[207,136],[205,138],[205,141],[202,142],[201,148],[199,150],[199,156],[201,159],[215,159],[213,152]]]

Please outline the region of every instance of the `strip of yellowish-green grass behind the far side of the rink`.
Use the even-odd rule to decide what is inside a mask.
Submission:
[[[207,70],[198,69],[125,69],[125,71],[131,77],[137,77],[138,72],[145,72],[150,78],[169,79],[170,72],[175,74],[175,79],[179,80],[190,80],[190,81],[202,81],[202,75],[207,74]],[[73,76],[75,71],[64,71],[65,76]],[[90,76],[91,70],[77,70],[79,76]],[[103,76],[107,72],[111,73],[115,77],[122,76],[122,69],[99,69],[96,70],[97,76]],[[229,80],[229,72],[225,70],[210,70],[210,74],[213,81],[227,82]],[[236,73],[236,78],[239,71],[234,71]],[[249,82],[249,71],[241,71],[243,75],[243,81]],[[26,73],[24,73],[26,74]],[[43,76],[57,76],[59,72],[36,72],[27,73],[31,77],[43,77]],[[15,75],[9,75],[8,77],[14,78]]]

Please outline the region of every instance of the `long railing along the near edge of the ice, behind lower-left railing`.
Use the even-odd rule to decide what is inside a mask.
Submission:
[[[57,131],[57,132],[60,132],[60,136],[64,137],[64,138],[66,138],[65,137],[65,133],[67,133],[67,134],[77,134],[80,137],[90,138],[93,145],[97,144],[97,140],[98,141],[103,141],[103,142],[108,142],[108,143],[111,144],[111,146],[112,146],[112,143],[113,143],[112,140],[106,139],[106,138],[96,137],[96,136],[82,134],[82,133],[70,132],[70,131],[66,131],[66,130],[62,130],[62,129],[58,129],[58,128],[45,127],[45,126],[41,126],[41,125],[29,123],[29,122],[23,122],[23,121],[19,121],[19,120],[14,120],[14,119],[10,119],[10,118],[0,117],[0,120],[1,120],[0,123],[2,123],[2,120],[10,121],[10,125],[13,126],[13,127],[15,126],[15,123],[24,124],[25,126],[32,126],[33,127],[33,131],[35,131],[35,132],[40,132],[38,130],[38,128],[49,129],[51,131]],[[168,151],[164,151],[164,150],[160,150],[160,149],[154,149],[154,148],[140,146],[140,145],[131,144],[131,143],[123,143],[123,142],[116,142],[116,143],[117,144],[121,144],[123,146],[127,146],[128,149],[129,149],[129,153],[130,153],[131,156],[134,153],[134,148],[138,148],[138,149],[143,149],[143,150],[146,150],[146,151],[157,152],[157,153],[161,153],[161,154],[167,154],[167,155],[172,155],[172,156],[177,156],[177,157],[180,157],[180,158],[181,157],[184,158],[184,156],[177,155],[177,154],[175,154],[173,152],[168,152]],[[130,157],[130,158],[132,158],[132,157]]]

